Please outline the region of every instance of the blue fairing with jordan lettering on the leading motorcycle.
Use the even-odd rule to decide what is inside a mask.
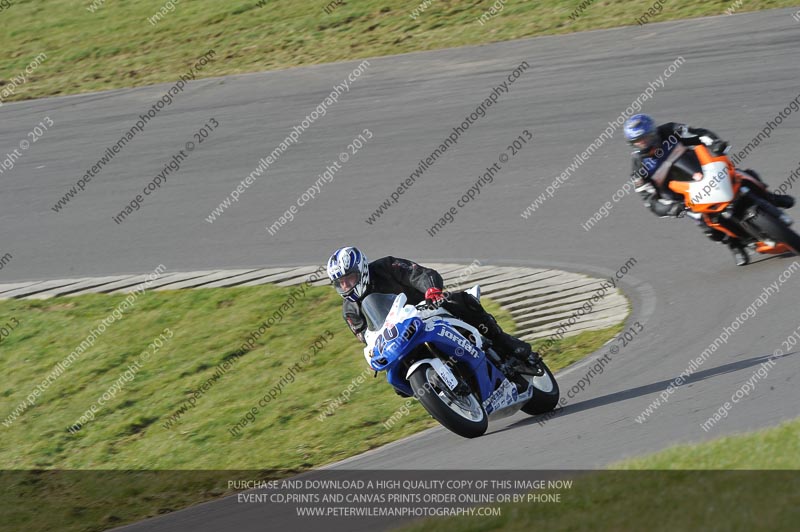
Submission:
[[[376,371],[386,371],[389,384],[406,395],[413,395],[406,379],[407,366],[400,362],[425,342],[430,342],[441,353],[469,367],[476,376],[480,400],[485,401],[505,380],[505,375],[487,358],[486,354],[470,343],[444,320],[423,322],[417,317],[384,330],[378,338],[370,360]]]

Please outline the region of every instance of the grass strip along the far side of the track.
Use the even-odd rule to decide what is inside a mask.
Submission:
[[[326,11],[324,1],[12,0],[0,13],[7,28],[0,49],[8,51],[0,57],[0,100],[175,81],[210,48],[217,55],[199,77],[637,25],[645,15],[659,22],[796,4],[655,3],[347,0]],[[40,53],[46,59],[25,73]]]

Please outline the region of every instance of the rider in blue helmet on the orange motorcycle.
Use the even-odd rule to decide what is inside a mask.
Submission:
[[[631,154],[631,178],[636,191],[645,200],[645,206],[662,218],[680,217],[686,210],[684,198],[665,186],[673,166],[680,164],[681,149],[676,148],[704,144],[715,155],[721,155],[728,149],[728,143],[708,129],[690,128],[676,122],[656,126],[653,119],[644,114],[633,115],[626,120],[623,131],[625,140],[634,148]],[[763,183],[755,170],[748,169],[743,173]],[[766,192],[765,195],[776,207],[788,209],[794,205],[794,198],[791,196],[771,192]],[[747,250],[739,239],[709,227],[702,220],[696,221],[711,240],[728,245],[737,266],[744,266],[750,261]]]

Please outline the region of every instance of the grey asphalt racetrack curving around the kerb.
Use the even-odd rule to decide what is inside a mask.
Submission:
[[[159,263],[173,271],[319,264],[348,243],[372,258],[479,259],[605,276],[634,257],[621,282],[633,304],[628,323],[638,321],[643,331],[559,415],[543,425],[517,415],[490,424],[475,440],[433,429],[336,467],[592,469],[677,443],[776,425],[798,414],[800,353],[791,349],[726,419],[708,432],[700,427],[800,325],[800,271],[783,273],[796,258],[756,257],[737,268],[728,250],[705,239],[693,222],[658,219],[636,194],[613,203],[606,218],[584,230],[581,224],[612,199],[629,173],[619,129],[532,216],[523,219],[520,213],[679,56],[685,61],[644,110],[659,121],[708,127],[734,150],[743,148],[798,96],[800,24],[790,13],[651,23],[369,59],[351,90],[213,224],[205,221],[211,210],[359,61],[190,83],[60,213],[51,209],[58,198],[170,84],[6,104],[2,153],[44,117],[55,125],[2,174],[0,252],[13,258],[0,281],[140,273]],[[418,161],[522,61],[530,66],[510,92],[397,205],[367,224]],[[784,119],[742,166],[757,169],[773,186],[786,179],[798,165],[798,115]],[[112,216],[212,117],[220,126],[180,171],[140,211],[115,224]],[[373,138],[294,221],[271,236],[266,226],[365,128]],[[510,153],[507,147],[525,129],[532,143],[459,209],[453,223],[429,236],[426,229],[485,167]],[[741,326],[688,383],[637,422],[670,381],[782,274],[785,282],[766,305],[740,318]],[[356,344],[353,356],[360,356]],[[591,362],[561,375],[562,394]],[[226,499],[129,529],[180,530],[192,512],[215,513],[217,525],[238,512],[242,525],[248,522],[243,511]],[[263,529],[255,516],[249,522],[259,527],[253,530]],[[212,528],[193,528],[206,529]]]

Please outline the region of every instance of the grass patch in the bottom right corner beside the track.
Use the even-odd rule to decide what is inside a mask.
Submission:
[[[574,478],[560,503],[508,504],[499,517],[428,520],[402,530],[789,531],[800,520],[800,419],[610,469]]]

